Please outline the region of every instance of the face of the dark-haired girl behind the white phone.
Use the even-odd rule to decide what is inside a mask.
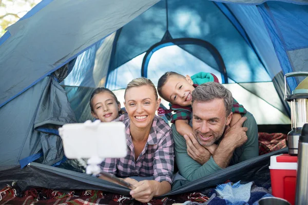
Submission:
[[[119,117],[121,105],[117,104],[117,101],[109,92],[95,94],[91,105],[93,108],[91,114],[102,122],[109,122]]]

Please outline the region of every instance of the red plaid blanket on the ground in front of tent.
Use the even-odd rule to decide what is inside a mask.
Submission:
[[[44,205],[101,205],[101,204],[173,204],[185,201],[205,202],[209,197],[201,193],[185,193],[164,198],[152,199],[149,203],[142,203],[130,196],[123,196],[99,190],[70,190],[29,189],[18,191],[18,187],[7,186],[0,191],[0,205],[4,204],[44,204]]]

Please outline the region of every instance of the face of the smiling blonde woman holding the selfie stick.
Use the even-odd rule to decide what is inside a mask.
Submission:
[[[148,85],[133,87],[126,91],[125,108],[130,119],[130,126],[148,128],[152,126],[155,112],[159,108],[161,99]]]

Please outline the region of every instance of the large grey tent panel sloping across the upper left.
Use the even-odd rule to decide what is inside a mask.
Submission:
[[[0,76],[6,76],[0,82],[0,107],[158,1],[54,0],[10,26],[11,37],[0,47],[5,68]]]

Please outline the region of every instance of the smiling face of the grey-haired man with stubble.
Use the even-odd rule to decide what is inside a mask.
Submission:
[[[226,116],[223,99],[195,101],[192,104],[192,114],[192,129],[203,147],[213,145],[222,137],[233,115],[230,113]]]

